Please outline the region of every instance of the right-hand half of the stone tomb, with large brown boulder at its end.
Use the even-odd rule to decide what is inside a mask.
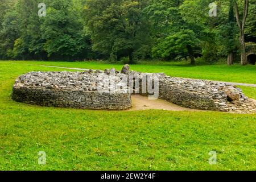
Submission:
[[[142,77],[158,77],[159,98],[191,109],[229,111],[233,113],[256,113],[256,101],[246,97],[240,88],[232,84],[177,78],[163,73],[130,72]],[[154,87],[154,79],[152,81]],[[140,93],[142,94],[141,90]],[[148,96],[148,94],[143,94]]]

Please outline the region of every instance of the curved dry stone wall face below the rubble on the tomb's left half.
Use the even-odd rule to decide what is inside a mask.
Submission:
[[[123,110],[131,107],[131,95],[128,93],[109,94],[75,89],[14,86],[12,97],[15,101],[42,106],[110,110]]]

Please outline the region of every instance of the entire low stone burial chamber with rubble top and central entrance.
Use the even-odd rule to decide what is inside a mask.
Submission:
[[[148,80],[157,94],[149,92]],[[130,71],[129,65],[121,71],[112,68],[105,71],[30,72],[16,79],[12,98],[42,106],[125,110],[132,106],[131,94],[154,95],[191,109],[256,113],[256,101],[246,97],[234,85],[170,77],[164,73],[134,72]]]

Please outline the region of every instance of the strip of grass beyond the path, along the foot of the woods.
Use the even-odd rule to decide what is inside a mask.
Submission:
[[[9,61],[19,64],[40,64],[53,65],[59,67],[87,68],[87,69],[106,69],[116,68],[121,70],[121,64],[106,64],[101,62],[49,62],[49,61]],[[247,84],[256,84],[256,67],[255,65],[199,65],[193,67],[180,63],[163,63],[156,64],[137,64],[131,65],[131,69],[141,72],[161,73],[164,72],[168,76],[184,77],[184,78],[200,78],[206,80],[241,82]]]

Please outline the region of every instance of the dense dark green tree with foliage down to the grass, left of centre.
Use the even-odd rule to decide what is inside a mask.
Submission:
[[[72,59],[90,49],[90,41],[82,33],[81,19],[72,9],[72,1],[49,1],[47,16],[40,28],[48,57]]]

